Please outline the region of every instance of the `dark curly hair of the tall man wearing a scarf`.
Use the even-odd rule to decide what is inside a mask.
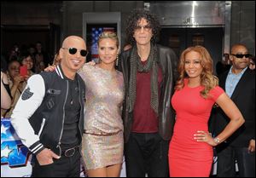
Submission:
[[[148,25],[152,28],[153,37],[151,37],[151,42],[156,43],[158,41],[160,33],[160,22],[157,17],[144,9],[134,9],[131,11],[131,15],[126,20],[127,43],[136,43],[133,37],[134,31],[136,29],[137,23],[143,18],[148,21]]]

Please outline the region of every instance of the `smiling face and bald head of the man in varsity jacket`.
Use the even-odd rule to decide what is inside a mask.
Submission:
[[[77,49],[75,54],[70,53],[70,49]],[[61,67],[63,72],[77,72],[85,62],[85,56],[81,55],[81,50],[86,50],[84,39],[77,36],[67,37],[60,49]]]

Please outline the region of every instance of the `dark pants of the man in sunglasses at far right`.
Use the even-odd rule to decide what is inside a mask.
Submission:
[[[255,152],[248,152],[247,147],[217,147],[217,176],[236,177],[236,160],[240,177],[255,177]]]

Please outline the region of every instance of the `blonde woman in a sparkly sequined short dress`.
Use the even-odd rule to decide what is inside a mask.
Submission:
[[[117,177],[123,161],[125,88],[123,74],[115,69],[119,54],[115,33],[99,36],[98,54],[98,64],[85,64],[79,71],[86,85],[82,155],[88,176]]]

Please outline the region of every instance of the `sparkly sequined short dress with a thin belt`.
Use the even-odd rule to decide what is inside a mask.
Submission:
[[[86,86],[82,156],[85,169],[123,161],[121,106],[125,95],[123,74],[85,64],[79,71]]]

